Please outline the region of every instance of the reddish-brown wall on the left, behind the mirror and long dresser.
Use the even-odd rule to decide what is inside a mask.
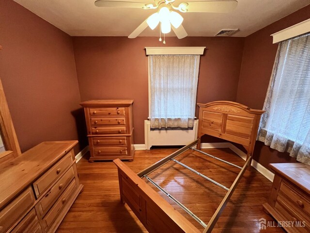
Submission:
[[[21,150],[47,140],[77,140],[75,116],[83,120],[71,37],[16,2],[1,0],[0,45],[0,78]]]

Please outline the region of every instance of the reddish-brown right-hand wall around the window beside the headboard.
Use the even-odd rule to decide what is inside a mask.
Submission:
[[[279,32],[310,18],[310,5],[270,24],[246,37],[242,57],[236,101],[251,108],[262,109],[266,96],[278,44],[272,44],[272,33]],[[288,153],[281,153],[257,142],[254,159],[268,166],[269,163],[294,162]]]

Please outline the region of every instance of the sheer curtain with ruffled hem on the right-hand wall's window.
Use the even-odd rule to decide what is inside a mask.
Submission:
[[[310,165],[310,33],[279,44],[258,140]]]

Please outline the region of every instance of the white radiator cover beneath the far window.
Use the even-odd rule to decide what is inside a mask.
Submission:
[[[152,146],[182,146],[197,139],[198,120],[194,121],[193,130],[151,130],[151,121],[144,120],[145,148]]]

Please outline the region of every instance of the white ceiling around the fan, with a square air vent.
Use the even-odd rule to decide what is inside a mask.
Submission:
[[[72,36],[128,36],[156,10],[103,8],[95,0],[15,0]],[[123,0],[125,1],[125,0]],[[128,0],[153,3],[152,0]],[[188,0],[193,1],[193,0]],[[232,13],[181,13],[188,36],[214,36],[222,28],[239,28],[244,37],[310,4],[309,0],[237,0]],[[184,0],[176,0],[177,3]],[[158,26],[140,36],[158,36]],[[168,35],[174,36],[171,31]]]

